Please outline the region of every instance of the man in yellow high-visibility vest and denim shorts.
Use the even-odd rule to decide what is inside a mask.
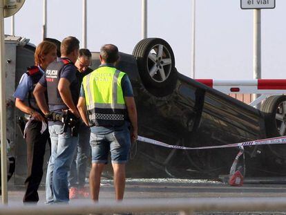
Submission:
[[[125,164],[131,141],[137,139],[137,111],[128,76],[115,68],[119,60],[118,48],[113,44],[102,46],[99,59],[102,63],[99,68],[82,81],[77,104],[84,123],[90,126],[91,131],[90,194],[94,201],[98,200],[102,170],[111,151],[115,199],[122,200]]]

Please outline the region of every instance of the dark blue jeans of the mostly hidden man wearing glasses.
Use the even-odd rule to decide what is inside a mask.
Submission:
[[[82,188],[86,180],[86,165],[90,157],[90,128],[82,122],[79,126],[79,142],[77,144],[77,153],[73,158],[70,171],[68,173],[69,187]]]

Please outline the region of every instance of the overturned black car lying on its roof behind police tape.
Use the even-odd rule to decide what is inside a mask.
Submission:
[[[93,68],[99,66],[93,53]],[[137,104],[139,135],[166,144],[202,147],[285,135],[286,96],[271,96],[261,110],[186,77],[163,39],[140,41],[133,55],[120,53]],[[285,175],[284,146],[245,147],[247,176]],[[237,148],[180,150],[133,144],[128,177],[213,178],[228,174]]]

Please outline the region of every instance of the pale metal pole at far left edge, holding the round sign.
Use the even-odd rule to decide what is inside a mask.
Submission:
[[[6,146],[6,75],[5,75],[5,44],[4,44],[4,4],[0,0],[0,134],[1,134],[1,194],[2,203],[8,204],[7,194],[7,146]]]

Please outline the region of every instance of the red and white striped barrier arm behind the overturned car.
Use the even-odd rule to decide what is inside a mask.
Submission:
[[[286,93],[286,79],[258,79],[258,80],[212,80],[196,79],[222,93],[259,93],[284,94]]]

